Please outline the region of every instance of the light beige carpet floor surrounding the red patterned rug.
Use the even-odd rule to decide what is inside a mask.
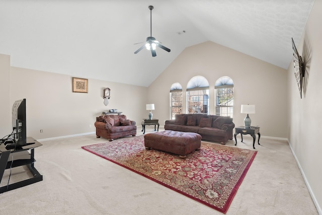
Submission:
[[[253,150],[251,136],[237,140],[238,148]],[[0,194],[0,213],[222,214],[81,149],[105,141],[95,134],[43,141],[35,167],[44,180]],[[234,147],[234,141],[226,145]],[[255,147],[257,156],[226,214],[317,214],[287,142],[261,138]],[[8,175],[6,170],[1,186]],[[13,181],[25,176],[24,169],[13,169]]]

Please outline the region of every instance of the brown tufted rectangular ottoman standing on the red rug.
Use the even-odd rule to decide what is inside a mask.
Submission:
[[[145,149],[156,149],[186,158],[189,153],[200,150],[201,135],[192,132],[165,130],[144,135]]]

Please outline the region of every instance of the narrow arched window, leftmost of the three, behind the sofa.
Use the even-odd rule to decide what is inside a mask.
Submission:
[[[170,118],[175,119],[176,114],[182,113],[182,87],[177,82],[170,89]]]

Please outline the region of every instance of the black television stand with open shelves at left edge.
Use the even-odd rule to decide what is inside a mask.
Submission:
[[[24,166],[26,165],[30,172],[33,174],[32,178],[28,178],[26,180],[22,180],[13,184],[9,184],[8,186],[0,187],[0,193],[7,192],[9,190],[17,189],[20,187],[24,187],[39,181],[42,181],[42,175],[36,170],[34,167],[35,160],[35,148],[40,147],[42,144],[35,140],[32,137],[27,137],[27,144],[25,146],[20,146],[16,150],[11,149],[7,150],[6,146],[0,145],[0,151],[2,152],[0,157],[0,182],[3,177],[3,173],[6,169]],[[30,150],[30,153],[29,151]],[[10,153],[8,153],[10,152]],[[13,153],[14,161],[11,160],[11,156]],[[4,157],[3,157],[4,156]],[[9,157],[9,160],[8,160]]]

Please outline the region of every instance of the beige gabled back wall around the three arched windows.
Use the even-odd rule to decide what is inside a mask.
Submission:
[[[170,87],[179,82],[184,91],[194,76],[205,77],[210,85],[210,114],[214,114],[214,85],[222,76],[234,82],[234,118],[236,126],[244,125],[241,104],[256,105],[250,114],[252,125],[261,127],[261,135],[287,137],[287,72],[285,69],[213,42],[186,48],[149,86],[148,99],[155,104],[153,117],[164,124],[170,118]],[[184,102],[186,112],[186,103]]]

